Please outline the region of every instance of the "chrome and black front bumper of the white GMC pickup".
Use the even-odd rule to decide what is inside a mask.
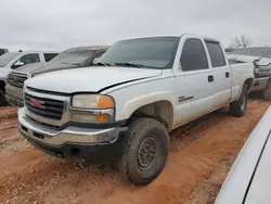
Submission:
[[[67,127],[53,129],[35,123],[27,117],[25,107],[18,110],[18,130],[34,146],[60,157],[102,160],[116,155],[119,149],[119,133],[127,128],[91,129]],[[101,156],[105,152],[104,156]],[[93,156],[91,153],[94,153]],[[92,161],[92,160],[91,160]],[[102,160],[103,161],[103,160]]]

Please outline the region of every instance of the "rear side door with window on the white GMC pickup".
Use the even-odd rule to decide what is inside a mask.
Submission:
[[[214,106],[218,109],[228,103],[231,97],[231,68],[225,62],[224,53],[218,41],[205,40],[214,75]]]

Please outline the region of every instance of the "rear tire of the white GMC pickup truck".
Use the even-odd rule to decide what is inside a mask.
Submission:
[[[236,117],[242,117],[247,110],[247,85],[243,86],[242,93],[237,101],[230,104],[230,113]]]

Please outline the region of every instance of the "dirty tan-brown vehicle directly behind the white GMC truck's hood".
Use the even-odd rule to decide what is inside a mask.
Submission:
[[[107,49],[107,46],[72,48],[61,52],[50,62],[29,64],[12,71],[5,86],[7,101],[14,106],[24,106],[23,87],[27,78],[53,71],[91,66]]]

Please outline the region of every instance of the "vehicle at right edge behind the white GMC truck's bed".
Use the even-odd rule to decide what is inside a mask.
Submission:
[[[253,62],[255,84],[251,92],[262,91],[266,100],[271,100],[271,48],[251,47],[235,49],[229,55],[231,64]]]

